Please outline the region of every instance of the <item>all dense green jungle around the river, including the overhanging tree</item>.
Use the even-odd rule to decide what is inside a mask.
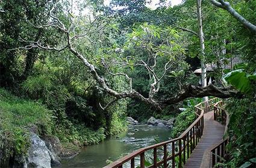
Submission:
[[[255,167],[256,1],[225,1],[251,27],[222,0],[158,2],[0,1],[2,165],[26,155],[31,130],[58,137],[63,153],[122,132],[126,116],[176,117],[176,137],[193,106],[216,96],[230,114],[221,166]]]

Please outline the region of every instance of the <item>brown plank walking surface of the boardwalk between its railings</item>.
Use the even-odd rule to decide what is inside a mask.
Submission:
[[[204,152],[215,143],[222,140],[225,130],[225,125],[221,125],[219,122],[214,121],[213,111],[204,114],[204,132],[201,139],[193,150],[191,156],[186,161],[184,167],[193,168],[200,167]]]

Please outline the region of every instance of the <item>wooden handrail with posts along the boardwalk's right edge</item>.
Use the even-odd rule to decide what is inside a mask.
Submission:
[[[229,123],[229,114],[223,108],[225,106],[224,101],[218,101],[214,104],[214,120],[220,122],[220,124],[225,124],[225,131],[228,130]],[[221,161],[221,159],[226,154],[226,145],[228,144],[228,137],[223,138],[219,143],[214,144],[207,149],[204,153],[204,161],[201,164],[201,167],[214,167],[214,165]]]

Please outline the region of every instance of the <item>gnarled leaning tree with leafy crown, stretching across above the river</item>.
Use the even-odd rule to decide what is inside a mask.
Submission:
[[[84,40],[89,41],[89,43],[91,44],[95,44],[97,43],[97,41],[102,40],[102,34],[104,33],[104,29],[107,28],[107,26],[109,25],[107,23],[108,21],[104,21],[104,19],[101,19],[101,17],[99,16],[91,19],[86,19],[88,17],[90,18],[90,16],[74,16],[72,13],[70,13],[70,10],[63,10],[63,8],[57,8],[61,5],[63,4],[59,2],[55,5],[54,8],[49,10],[50,19],[47,23],[39,25],[37,23],[30,22],[30,24],[36,28],[43,28],[48,30],[57,29],[58,32],[61,32],[61,38],[57,39],[58,41],[61,41],[60,45],[49,45],[45,43],[45,41],[34,41],[31,38],[27,38],[20,41],[30,44],[20,48],[27,50],[39,48],[44,50],[54,50],[55,52],[63,52],[64,50],[67,50],[75,55],[83,62],[84,66],[89,69],[96,82],[98,82],[98,85],[102,89],[104,89],[104,91],[107,92],[109,95],[113,96],[113,100],[111,100],[110,103],[108,103],[106,106],[102,107],[103,109],[108,107],[114,101],[127,97],[143,101],[146,104],[155,107],[156,109],[163,109],[163,107],[166,107],[169,104],[178,103],[188,97],[205,97],[208,95],[213,95],[216,97],[226,98],[237,94],[236,89],[233,88],[218,88],[213,85],[205,87],[187,85],[183,86],[183,88],[181,88],[181,91],[178,92],[174,97],[166,98],[164,100],[155,100],[154,95],[156,92],[159,91],[160,82],[166,75],[166,71],[169,70],[171,65],[178,64],[178,61],[180,59],[177,59],[174,54],[178,49],[175,41],[169,41],[170,35],[172,35],[172,37],[175,37],[175,35],[178,34],[176,34],[173,29],[167,29],[167,31],[164,32],[158,28],[152,28],[151,26],[145,26],[140,31],[134,32],[134,34],[132,34],[131,36],[131,44],[133,44],[135,47],[144,49],[145,52],[148,52],[148,57],[146,61],[136,60],[134,58],[128,57],[122,59],[121,62],[119,62],[119,59],[112,58],[110,61],[112,66],[116,65],[117,67],[145,67],[145,70],[148,71],[149,76],[152,79],[149,81],[150,89],[148,97],[145,97],[138,91],[134,90],[132,85],[133,79],[131,79],[131,77],[129,77],[126,73],[123,73],[122,71],[117,71],[116,73],[111,72],[110,74],[112,74],[113,76],[118,75],[126,77],[126,79],[128,79],[130,83],[130,88],[125,89],[122,92],[115,91],[114,89],[110,88],[107,79],[105,79],[104,76],[101,76],[98,73],[98,70],[96,68],[97,61],[95,61],[95,55],[93,55],[92,53],[88,53],[86,50],[83,50],[83,47],[88,48],[86,46],[83,46]],[[113,26],[113,24],[110,26]],[[164,35],[166,35],[166,37],[164,37]],[[153,38],[157,37],[159,39],[166,39],[166,41],[152,41]],[[122,49],[117,49],[116,52],[122,52]],[[159,74],[156,74],[154,70],[157,65],[157,56],[159,55],[166,56],[166,58],[168,58],[169,56],[169,59],[166,59],[166,64],[163,64],[164,67],[162,67],[163,71],[160,76]],[[98,58],[101,60],[104,67],[110,67],[109,64],[106,64],[106,60],[103,55],[98,55]],[[118,56],[116,58],[118,58]]]

